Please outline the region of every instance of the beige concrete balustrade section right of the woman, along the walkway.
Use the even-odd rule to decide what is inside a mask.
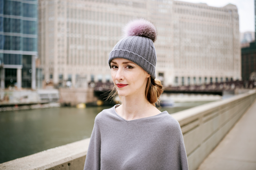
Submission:
[[[172,114],[181,126],[190,170],[197,169],[255,98],[253,90]]]

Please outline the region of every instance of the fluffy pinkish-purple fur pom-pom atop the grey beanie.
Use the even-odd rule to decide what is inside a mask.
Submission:
[[[147,37],[155,42],[157,33],[153,23],[145,19],[136,19],[127,23],[126,27],[124,28],[124,36]]]

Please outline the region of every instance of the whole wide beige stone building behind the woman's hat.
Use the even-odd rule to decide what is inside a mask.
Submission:
[[[241,79],[234,5],[39,0],[38,10],[38,53],[45,84],[65,86],[70,81],[86,88],[90,81],[110,81],[108,54],[122,38],[122,27],[135,18],[156,25],[156,75],[165,86],[182,85],[182,80],[186,85],[203,83],[205,78]]]

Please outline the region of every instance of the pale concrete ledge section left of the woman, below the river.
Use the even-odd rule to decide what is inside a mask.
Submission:
[[[67,145],[63,145],[60,147],[48,149],[48,150],[38,152],[36,154],[29,155],[26,157],[14,159],[9,162],[0,164],[0,169],[2,170],[67,169],[65,168],[65,166],[67,165],[71,166],[70,162],[79,158],[81,159],[83,158],[83,164],[84,164],[85,156],[87,154],[87,148],[89,147],[89,142],[90,142],[90,138],[69,143]],[[60,168],[58,168],[58,166],[60,166]],[[76,167],[81,165],[73,164],[72,166]],[[75,167],[73,169],[78,169]]]

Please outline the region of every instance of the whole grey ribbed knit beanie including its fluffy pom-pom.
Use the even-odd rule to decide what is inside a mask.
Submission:
[[[144,19],[133,20],[124,29],[125,38],[121,39],[109,54],[108,64],[114,58],[125,58],[139,65],[156,78],[156,40],[155,26]]]

